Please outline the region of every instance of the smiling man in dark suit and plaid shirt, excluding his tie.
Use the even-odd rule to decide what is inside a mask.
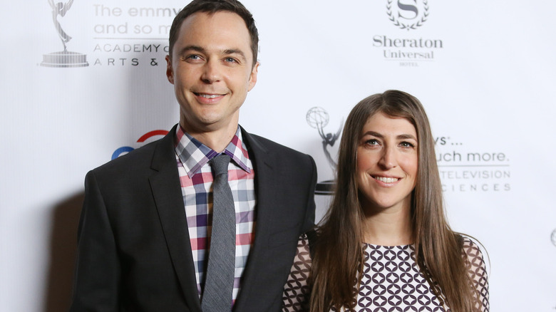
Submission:
[[[88,173],[71,311],[202,311],[222,154],[236,214],[230,310],[280,310],[298,236],[314,225],[316,168],[238,125],[257,49],[235,0],[194,0],[176,16],[166,61],[180,123]]]

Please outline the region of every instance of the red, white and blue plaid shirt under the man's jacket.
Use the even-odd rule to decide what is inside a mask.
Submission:
[[[207,269],[207,250],[212,230],[212,170],[209,160],[219,155],[177,127],[175,153],[180,175],[187,227],[195,264],[197,291],[201,296]],[[232,158],[228,180],[235,203],[235,279],[232,300],[240,292],[240,281],[254,239],[254,170],[240,128],[223,152]]]

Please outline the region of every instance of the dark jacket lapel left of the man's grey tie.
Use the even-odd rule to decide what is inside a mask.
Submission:
[[[180,177],[177,173],[174,153],[175,128],[172,128],[168,135],[160,140],[155,149],[151,165],[154,174],[150,177],[149,182],[168,244],[168,251],[187,305],[191,311],[201,311],[190,237],[187,231],[187,219],[183,209]]]

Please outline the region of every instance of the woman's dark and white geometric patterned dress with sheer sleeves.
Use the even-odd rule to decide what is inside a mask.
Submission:
[[[489,311],[488,279],[483,254],[477,244],[468,238],[463,240],[463,250],[470,264],[468,274],[480,296],[478,302],[481,304],[477,308],[483,312]],[[431,285],[419,272],[413,245],[364,244],[364,261],[364,271],[354,311],[451,311],[446,304],[438,300]],[[294,265],[284,286],[282,311],[309,311],[307,278],[311,264],[309,241],[307,236],[303,235],[299,239]],[[336,310],[333,308],[331,311]]]

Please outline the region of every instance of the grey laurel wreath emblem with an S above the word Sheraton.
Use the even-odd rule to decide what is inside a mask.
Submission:
[[[417,29],[428,18],[428,0],[388,0],[386,13],[395,26]]]

